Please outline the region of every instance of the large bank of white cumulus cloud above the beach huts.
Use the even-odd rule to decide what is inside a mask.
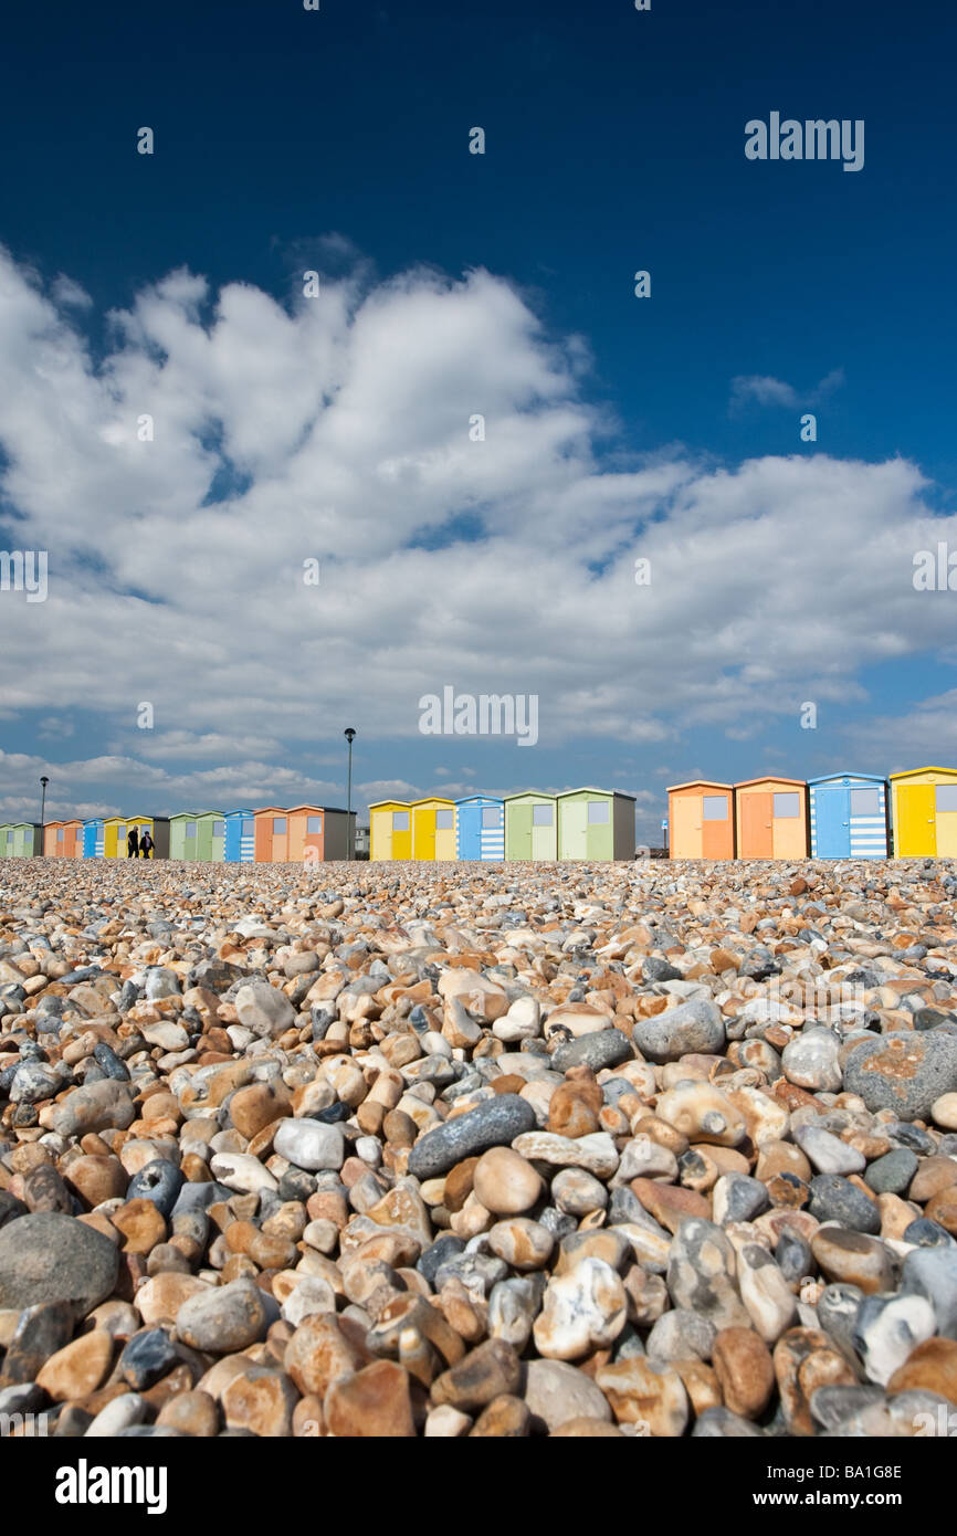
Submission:
[[[865,667],[940,645],[912,554],[957,544],[957,516],[917,465],[628,456],[581,339],[507,281],[376,283],[347,244],[330,255],[320,296],[287,304],[172,272],[108,316],[104,353],[69,280],[46,290],[0,255],[3,538],[49,551],[46,602],[0,596],[2,708],[31,740],[34,713],[63,736],[106,720],[98,756],[57,765],[77,796],[341,800],[327,722],[382,768],[445,685],[538,694],[542,746],[671,754],[696,727],[745,739],[805,699],[865,700]],[[26,774],[32,796],[37,760],[0,765],[6,794]]]

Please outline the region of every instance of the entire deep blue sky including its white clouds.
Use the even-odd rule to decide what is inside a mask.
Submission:
[[[696,773],[957,759],[952,17],[450,11],[8,18],[0,541],[51,574],[0,593],[0,816],[338,803],[347,723],[359,797],[598,782],[647,834]],[[747,160],[771,111],[863,169]],[[538,745],[421,736],[445,684]]]

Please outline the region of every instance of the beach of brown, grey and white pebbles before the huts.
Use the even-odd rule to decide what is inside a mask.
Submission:
[[[0,1415],[926,1433],[957,863],[0,865]]]

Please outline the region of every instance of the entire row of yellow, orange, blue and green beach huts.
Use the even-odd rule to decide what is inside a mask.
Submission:
[[[957,768],[820,779],[696,779],[668,788],[671,859],[957,857]],[[634,859],[634,796],[618,790],[376,800],[373,860]],[[295,805],[175,816],[0,823],[0,857],[123,859],[149,829],[154,857],[227,863],[349,859],[355,813]]]

